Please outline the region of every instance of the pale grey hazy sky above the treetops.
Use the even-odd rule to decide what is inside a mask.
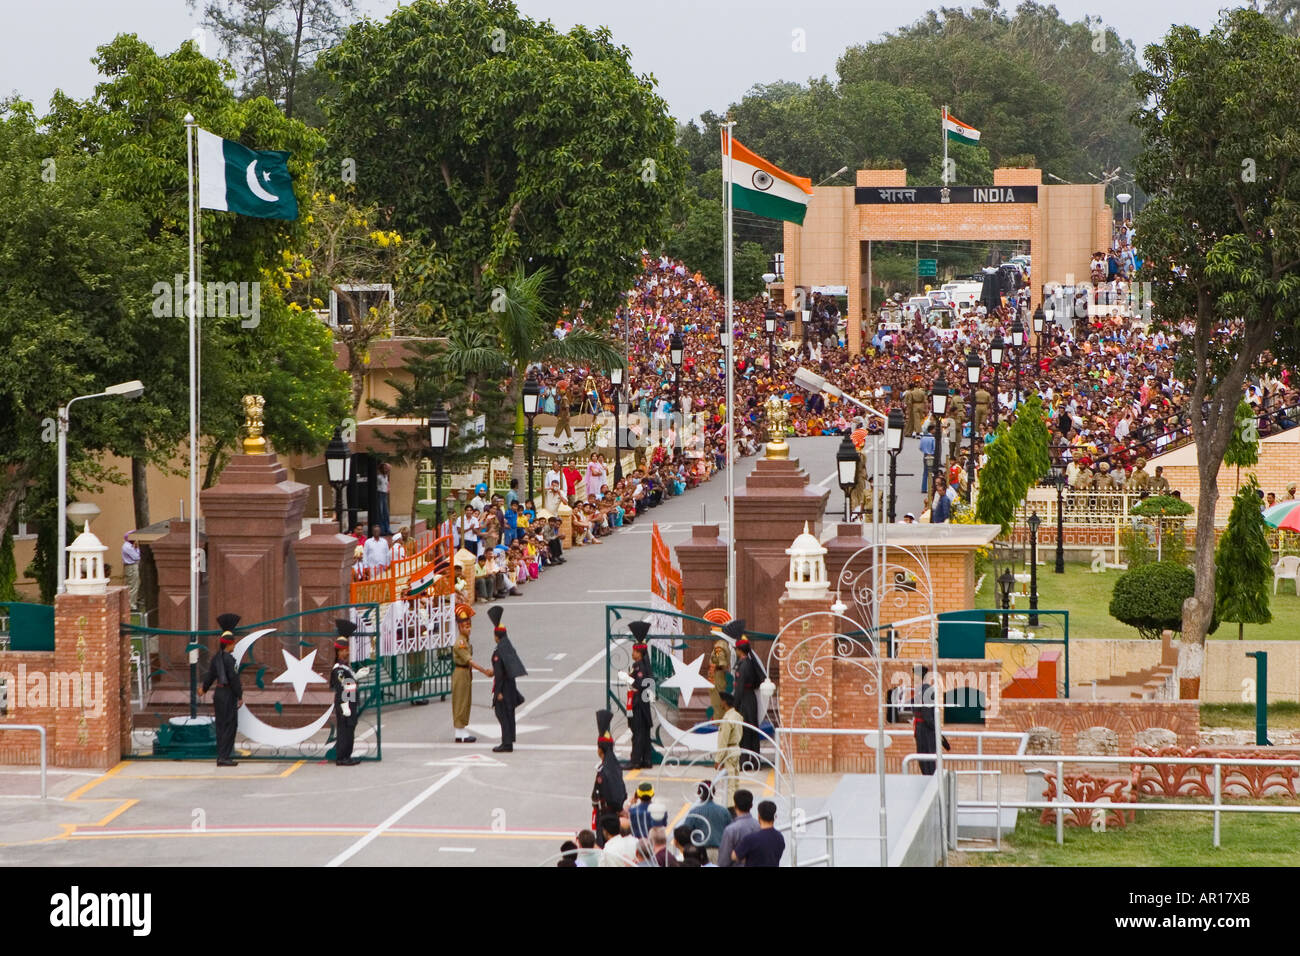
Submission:
[[[359,0],[372,16],[386,16],[396,0]],[[563,30],[573,23],[604,25],[633,55],[638,73],[653,73],[679,118],[722,111],[754,83],[806,81],[833,74],[845,47],[913,22],[936,0],[516,0],[534,20]],[[958,4],[948,0],[948,5]],[[1119,35],[1143,46],[1171,23],[1213,25],[1225,0],[1061,0],[1069,21],[1100,16]],[[1004,7],[1008,7],[1004,3]],[[135,33],[168,52],[199,26],[186,0],[0,0],[5,52],[0,95],[21,94],[46,108],[62,88],[87,96],[96,74],[95,47],[118,33]],[[803,51],[796,52],[794,31]],[[209,47],[213,46],[209,43]],[[209,53],[214,52],[208,49]]]

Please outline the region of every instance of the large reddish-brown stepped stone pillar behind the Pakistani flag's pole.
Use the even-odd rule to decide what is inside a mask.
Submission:
[[[290,545],[302,532],[307,492],[273,454],[235,455],[221,481],[202,492],[213,614],[238,614],[247,626],[298,610]]]

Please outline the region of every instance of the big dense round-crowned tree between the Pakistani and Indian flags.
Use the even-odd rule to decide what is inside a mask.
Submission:
[[[335,161],[360,202],[448,263],[447,312],[482,312],[516,265],[558,308],[612,315],[682,187],[675,124],[608,30],[558,33],[508,0],[416,0],[321,55]]]

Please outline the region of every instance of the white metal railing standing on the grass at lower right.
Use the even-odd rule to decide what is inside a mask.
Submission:
[[[909,753],[904,757],[904,767],[909,763],[922,761],[935,761],[932,753]],[[948,757],[946,760],[952,760]],[[1221,821],[1225,813],[1300,813],[1300,804],[1295,806],[1279,806],[1277,804],[1225,804],[1223,803],[1223,767],[1300,767],[1300,760],[1266,760],[1257,757],[1095,757],[1083,754],[984,754],[984,761],[993,763],[1048,763],[1056,766],[1057,792],[1052,800],[1006,800],[1002,806],[1020,810],[1056,810],[1056,836],[1057,843],[1065,843],[1065,812],[1066,810],[1173,810],[1191,813],[1212,813],[1214,816],[1214,845],[1221,844]],[[1210,804],[1169,804],[1169,803],[1115,803],[1113,800],[1093,800],[1088,803],[1072,800],[1065,792],[1065,765],[1084,763],[1098,766],[1169,766],[1193,765],[1214,767],[1214,790]],[[1026,774],[1045,773],[1043,767],[1027,769]],[[983,801],[959,804],[961,809],[975,810],[988,809]]]

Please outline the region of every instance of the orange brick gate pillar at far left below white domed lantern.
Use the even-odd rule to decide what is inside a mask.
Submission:
[[[130,620],[126,588],[55,598],[55,667],[49,674],[57,766],[108,769],[130,749]]]

